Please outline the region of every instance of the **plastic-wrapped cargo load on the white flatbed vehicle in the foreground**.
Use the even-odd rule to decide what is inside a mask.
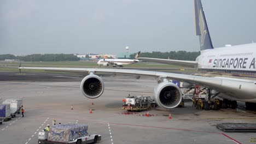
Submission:
[[[87,124],[66,123],[51,127],[48,134],[48,141],[68,142],[86,135],[88,135]]]

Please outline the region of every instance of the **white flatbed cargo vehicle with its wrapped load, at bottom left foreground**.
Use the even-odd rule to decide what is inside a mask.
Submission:
[[[66,123],[53,125],[50,131],[39,131],[39,144],[85,144],[96,143],[101,135],[88,135],[88,125],[80,123]]]

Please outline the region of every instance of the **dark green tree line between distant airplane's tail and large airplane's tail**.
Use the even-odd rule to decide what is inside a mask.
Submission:
[[[134,58],[137,53],[130,55]],[[196,57],[200,55],[200,52],[187,52],[187,51],[170,51],[170,52],[141,52],[139,57],[150,57],[150,58],[163,58],[163,59],[177,59],[184,61],[195,61]]]

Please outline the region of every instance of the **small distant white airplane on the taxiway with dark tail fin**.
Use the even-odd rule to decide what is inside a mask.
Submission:
[[[140,51],[137,53],[137,55],[135,56],[135,58],[137,58],[139,56]],[[113,67],[124,67],[123,65],[127,65],[127,64],[133,64],[133,63],[137,63],[139,62],[138,59],[100,59],[98,60],[97,64],[103,65],[103,66],[109,66],[112,65]]]

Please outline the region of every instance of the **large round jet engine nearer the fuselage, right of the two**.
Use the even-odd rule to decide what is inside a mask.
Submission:
[[[166,109],[172,109],[181,103],[181,89],[172,82],[161,82],[154,89],[155,102]]]

